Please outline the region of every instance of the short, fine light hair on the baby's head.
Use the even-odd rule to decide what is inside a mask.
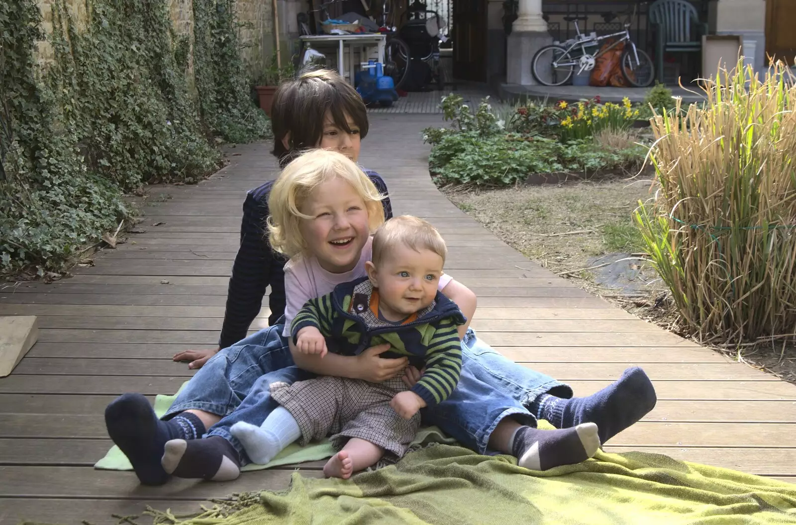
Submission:
[[[373,235],[373,256],[371,262],[377,268],[388,256],[390,250],[398,244],[419,252],[421,249],[431,250],[443,258],[447,257],[447,246],[443,236],[430,222],[413,215],[392,217],[379,226]]]

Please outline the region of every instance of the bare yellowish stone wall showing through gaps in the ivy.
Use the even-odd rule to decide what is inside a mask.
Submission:
[[[190,42],[189,53],[189,82],[193,84],[193,0],[166,0],[170,2],[170,17],[174,24],[174,31],[178,35],[188,35]],[[78,29],[85,27],[88,22],[86,0],[65,0],[72,20]],[[53,31],[53,0],[38,0],[44,20],[43,27],[47,33]],[[237,0],[236,14],[240,27],[240,40],[244,45],[241,53],[244,62],[248,65],[249,76],[252,80],[261,74],[268,57],[274,49],[273,27],[274,21],[271,10],[271,0]],[[53,60],[53,49],[46,42],[39,42],[39,61]]]

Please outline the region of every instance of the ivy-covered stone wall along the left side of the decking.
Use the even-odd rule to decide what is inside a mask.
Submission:
[[[123,193],[268,135],[239,2],[0,2],[0,274],[62,267],[126,216]]]

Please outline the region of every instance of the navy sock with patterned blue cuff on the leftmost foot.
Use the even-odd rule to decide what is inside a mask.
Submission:
[[[193,413],[159,420],[141,394],[123,394],[111,402],[105,409],[105,426],[145,485],[161,485],[169,480],[160,463],[166,441],[197,439],[205,433],[205,425]]]

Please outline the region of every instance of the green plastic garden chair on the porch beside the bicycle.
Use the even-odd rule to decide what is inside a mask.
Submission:
[[[663,53],[701,53],[708,24],[699,21],[696,8],[686,0],[657,0],[647,16],[655,29],[655,72],[662,82]]]

